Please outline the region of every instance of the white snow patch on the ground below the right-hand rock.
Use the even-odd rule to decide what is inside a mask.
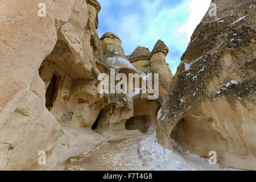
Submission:
[[[221,170],[218,164],[210,165],[208,163],[209,159],[201,158],[198,155],[193,155],[189,151],[183,152],[182,148],[174,140],[171,141],[172,145],[176,147],[179,152],[163,148],[156,140],[156,133],[144,137],[140,142],[141,147],[139,148],[143,165],[149,170],[154,171]],[[230,169],[224,168],[224,170]]]

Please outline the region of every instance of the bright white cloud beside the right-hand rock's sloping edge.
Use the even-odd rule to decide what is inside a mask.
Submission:
[[[196,26],[201,22],[205,13],[208,11],[211,0],[192,0],[189,4],[191,14],[187,23],[180,27],[180,32],[187,32],[188,42],[195,30]]]

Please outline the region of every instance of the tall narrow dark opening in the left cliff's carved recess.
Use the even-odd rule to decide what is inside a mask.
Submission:
[[[46,108],[51,110],[54,101],[57,97],[57,91],[59,89],[58,77],[54,74],[51,78],[51,82],[46,90]]]

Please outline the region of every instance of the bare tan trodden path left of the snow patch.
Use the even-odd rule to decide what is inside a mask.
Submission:
[[[139,159],[138,144],[146,134],[123,137],[102,143],[97,148],[66,160],[67,170],[147,170]],[[60,170],[63,170],[59,168]]]

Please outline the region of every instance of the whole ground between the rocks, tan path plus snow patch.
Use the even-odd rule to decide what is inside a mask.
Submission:
[[[138,134],[110,140],[67,159],[59,164],[57,170],[221,170],[218,165],[210,165],[206,158],[188,151],[166,150],[154,140],[155,134]],[[139,156],[139,150],[142,157]]]

